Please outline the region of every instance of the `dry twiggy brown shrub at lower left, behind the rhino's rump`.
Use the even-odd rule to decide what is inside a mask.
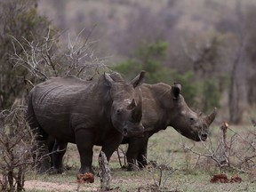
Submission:
[[[25,173],[34,164],[32,148],[36,140],[26,123],[25,111],[19,106],[0,113],[1,191],[23,190]]]

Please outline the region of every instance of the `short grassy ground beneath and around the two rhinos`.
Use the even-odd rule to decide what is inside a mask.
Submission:
[[[251,125],[230,128],[244,137],[248,132],[254,132]],[[204,143],[188,140],[172,128],[158,132],[151,137],[148,143],[148,161],[156,161],[158,165],[164,164],[162,177],[160,177],[158,169],[150,166],[140,172],[122,170],[115,153],[110,161],[113,178],[111,188],[115,188],[116,191],[156,191],[154,184],[159,184],[161,178],[162,191],[256,191],[256,183],[252,182],[255,180],[254,166],[250,167],[251,173],[249,174],[235,170],[220,170],[209,158],[199,157],[188,149],[184,149],[184,145],[186,145],[198,153],[209,154],[209,148],[217,148],[217,143],[220,140],[219,130],[218,127],[213,127],[211,140]],[[228,140],[233,134],[228,132]],[[236,143],[236,140],[233,142]],[[237,144],[239,146],[239,143]],[[125,149],[125,146],[122,148]],[[100,148],[94,148],[93,165],[95,172],[99,169],[99,152]],[[122,153],[121,156],[123,156]],[[124,157],[121,160],[124,164]],[[25,187],[28,186],[27,191],[76,191],[78,188],[76,173],[79,169],[79,157],[75,145],[68,145],[65,164],[70,169],[61,175],[36,175],[34,172],[29,172],[27,183],[30,186],[25,184]],[[241,183],[211,183],[212,176],[220,172],[225,172],[228,178],[238,174],[243,181]],[[99,189],[100,178],[95,176],[94,183],[81,185],[79,191],[97,191]]]

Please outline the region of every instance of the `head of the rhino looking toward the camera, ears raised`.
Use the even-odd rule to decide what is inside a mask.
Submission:
[[[105,74],[105,81],[110,86],[110,95],[113,100],[111,106],[111,121],[117,131],[125,137],[142,136],[142,96],[140,84],[145,72],[141,71],[131,83],[126,83],[119,74]],[[139,92],[138,90],[139,89]]]

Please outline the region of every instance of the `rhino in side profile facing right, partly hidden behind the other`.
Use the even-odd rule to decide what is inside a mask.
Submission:
[[[148,139],[154,133],[172,126],[177,132],[190,140],[206,140],[208,129],[216,116],[216,108],[209,116],[196,114],[186,104],[180,94],[181,85],[174,84],[142,84],[143,98],[142,124],[145,127],[143,138],[124,138],[128,143],[126,153],[128,170],[147,165]]]

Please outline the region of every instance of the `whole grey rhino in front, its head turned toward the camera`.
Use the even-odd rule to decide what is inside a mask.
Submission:
[[[123,78],[113,80],[108,74],[97,81],[83,81],[74,76],[55,77],[37,84],[28,97],[28,124],[39,141],[40,156],[49,153],[49,135],[65,149],[76,143],[80,155],[80,173],[92,172],[92,147],[102,146],[108,160],[124,136],[141,136],[140,84],[145,72],[140,72],[130,84]],[[63,153],[57,155],[62,168]],[[40,172],[50,168],[49,159]]]

